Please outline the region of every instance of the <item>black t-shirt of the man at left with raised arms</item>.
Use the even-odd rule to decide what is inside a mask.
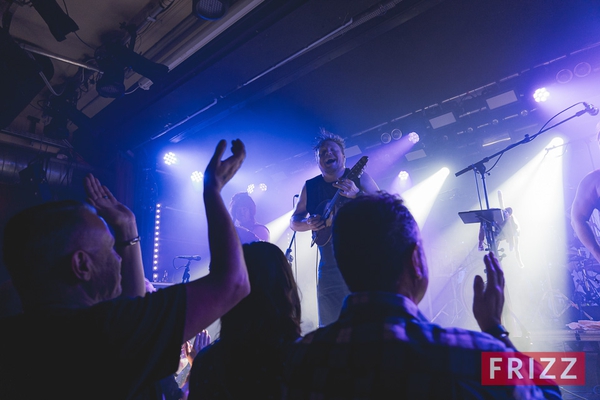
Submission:
[[[186,291],[0,320],[0,397],[127,399],[177,370]]]

